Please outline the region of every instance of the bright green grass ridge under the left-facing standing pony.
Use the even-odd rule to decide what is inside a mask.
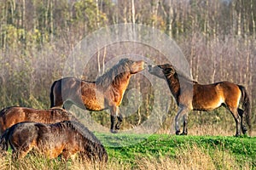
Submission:
[[[176,159],[183,150],[196,148],[207,152],[212,159],[216,152],[228,153],[241,165],[249,163],[256,167],[256,138],[224,136],[174,136],[166,134],[96,134],[107,146],[110,158],[126,161],[132,165],[143,157],[148,159],[169,157]]]

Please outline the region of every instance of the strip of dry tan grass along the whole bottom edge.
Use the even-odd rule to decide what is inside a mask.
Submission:
[[[111,159],[107,164],[89,163],[74,159],[73,161],[61,161],[58,159],[49,160],[40,155],[28,155],[19,161],[11,161],[11,154],[0,159],[0,169],[72,169],[72,170],[166,170],[166,169],[252,169],[252,165],[245,163],[242,167],[229,152],[215,150],[209,153],[209,150],[200,148],[197,145],[186,145],[178,150],[175,159],[171,157],[139,157],[134,165],[125,161]]]

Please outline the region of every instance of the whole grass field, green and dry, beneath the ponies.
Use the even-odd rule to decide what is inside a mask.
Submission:
[[[255,169],[256,138],[96,133],[108,150],[107,165],[79,159],[48,160],[30,154],[0,160],[1,169]]]

